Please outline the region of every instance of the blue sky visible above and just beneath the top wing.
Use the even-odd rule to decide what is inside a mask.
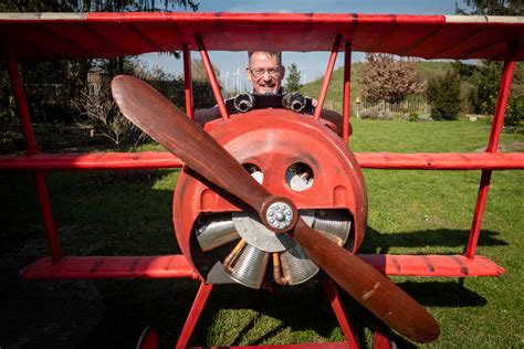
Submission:
[[[197,0],[198,1],[198,0]],[[198,12],[284,12],[284,13],[401,13],[401,14],[454,14],[455,2],[460,0],[200,0]],[[181,9],[184,11],[184,9]],[[187,11],[191,11],[188,9]],[[284,52],[282,63],[289,66],[295,63],[301,71],[302,83],[308,83],[324,75],[328,60],[328,52],[300,53]],[[209,52],[210,60],[220,72],[220,80],[227,89],[249,89],[245,78],[247,53],[243,52]],[[200,59],[192,52],[192,59]],[[353,61],[363,61],[364,54],[354,53]],[[158,66],[166,73],[182,74],[182,61],[157,53],[144,54],[139,57],[149,67]],[[340,66],[344,56],[338,55],[335,68]],[[322,62],[322,63],[319,63]],[[240,85],[240,86],[239,86]],[[240,87],[240,88],[239,88]]]

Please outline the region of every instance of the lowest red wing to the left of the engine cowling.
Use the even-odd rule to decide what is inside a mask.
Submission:
[[[20,271],[28,279],[49,278],[198,278],[185,256],[63,256],[41,258]]]

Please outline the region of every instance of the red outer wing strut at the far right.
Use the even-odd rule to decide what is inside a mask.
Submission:
[[[499,141],[502,133],[502,125],[504,123],[504,114],[506,110],[507,97],[510,96],[511,82],[513,78],[513,71],[515,68],[515,55],[518,42],[507,42],[507,56],[504,61],[504,68],[502,70],[501,83],[499,87],[499,95],[496,97],[495,113],[491,125],[490,139],[488,141],[486,152],[497,152]],[[476,253],[476,245],[479,243],[480,230],[482,226],[482,218],[484,216],[484,208],[488,201],[488,193],[490,192],[491,170],[482,171],[481,181],[479,186],[479,193],[476,195],[475,210],[473,213],[473,221],[471,223],[470,237],[465,247],[465,256],[473,258]]]

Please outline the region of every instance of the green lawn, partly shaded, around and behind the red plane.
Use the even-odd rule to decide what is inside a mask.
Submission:
[[[355,120],[354,151],[475,151],[488,140],[483,121]],[[503,134],[505,149],[523,149],[523,133]],[[147,174],[148,173],[148,174]],[[65,254],[124,255],[179,252],[171,226],[178,172],[50,173],[55,223]],[[1,173],[1,253],[43,241],[29,174]],[[364,253],[462,253],[480,171],[365,170],[369,219]],[[524,171],[493,174],[478,252],[506,268],[499,278],[395,278],[438,319],[431,348],[524,347]],[[134,347],[143,328],[172,345],[189,311],[192,281],[97,281],[106,318],[85,348]],[[360,343],[371,346],[375,321],[350,297],[344,303]],[[318,284],[255,292],[217,286],[192,345],[258,345],[343,340]],[[399,347],[415,347],[397,338]]]

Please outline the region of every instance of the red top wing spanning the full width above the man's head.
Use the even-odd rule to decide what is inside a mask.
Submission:
[[[227,12],[75,15],[2,14],[0,35],[13,39],[17,53],[24,60],[178,51],[184,43],[197,47],[196,34],[202,35],[212,51],[329,51],[328,38],[342,34],[358,52],[500,60],[505,54],[505,42],[522,38],[524,32],[524,23],[512,17]],[[480,30],[483,34],[470,40]],[[522,59],[524,49],[520,47],[517,60]]]

